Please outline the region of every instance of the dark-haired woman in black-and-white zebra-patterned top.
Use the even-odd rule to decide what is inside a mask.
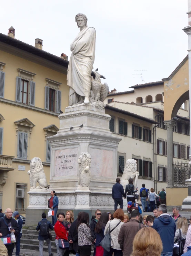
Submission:
[[[91,229],[89,228],[89,214],[87,212],[81,212],[80,216],[78,216],[77,227],[80,256],[90,256],[94,238],[91,236]]]

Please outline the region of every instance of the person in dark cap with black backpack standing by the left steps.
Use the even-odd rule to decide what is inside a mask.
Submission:
[[[49,254],[49,256],[53,255],[52,249],[51,249],[51,240],[50,240],[50,237],[49,237],[50,236],[49,228],[54,229],[54,227],[52,226],[50,221],[48,221],[46,218],[47,218],[47,215],[46,215],[45,212],[43,212],[42,213],[42,220],[39,221],[38,226],[36,227],[36,230],[39,231],[38,240],[39,240],[40,256],[43,256],[44,240],[48,244],[48,254]]]

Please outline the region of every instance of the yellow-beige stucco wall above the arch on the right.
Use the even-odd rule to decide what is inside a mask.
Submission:
[[[164,81],[164,120],[171,120],[172,110],[177,100],[189,90],[188,60],[168,81]]]

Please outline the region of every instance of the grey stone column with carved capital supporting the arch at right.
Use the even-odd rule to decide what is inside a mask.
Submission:
[[[173,170],[173,126],[174,120],[164,121],[167,126],[167,167],[168,167],[168,187],[174,186],[174,170]]]

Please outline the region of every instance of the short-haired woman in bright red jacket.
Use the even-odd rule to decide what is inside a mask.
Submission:
[[[68,232],[67,232],[68,230],[67,230],[67,227],[64,225],[65,214],[63,212],[59,212],[57,214],[57,218],[58,218],[58,221],[54,225],[54,231],[56,233],[55,243],[56,243],[56,246],[57,246],[57,255],[58,256],[63,256],[63,255],[65,255],[65,253],[66,253],[66,255],[68,255],[68,249],[66,249],[66,250],[59,249],[59,246],[58,246],[58,239],[59,238],[62,238],[64,240],[68,240]]]

